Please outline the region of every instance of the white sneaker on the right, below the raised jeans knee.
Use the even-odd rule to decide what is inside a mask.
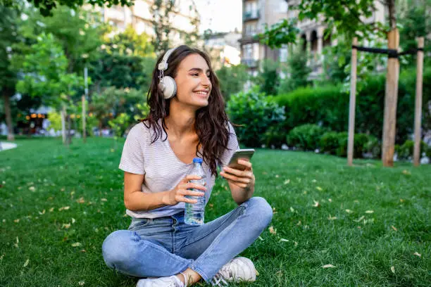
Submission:
[[[249,258],[235,257],[220,268],[211,279],[211,284],[213,286],[223,286],[222,284],[228,286],[227,281],[256,281],[257,274],[256,268]]]

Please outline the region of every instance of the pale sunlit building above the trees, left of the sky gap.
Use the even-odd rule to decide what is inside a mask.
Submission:
[[[145,32],[150,36],[154,36],[153,14],[151,6],[154,0],[135,0],[133,6],[112,6],[94,9],[101,12],[104,21],[118,28],[119,31],[124,31],[129,25],[137,31],[138,34]],[[194,26],[191,21],[199,18],[199,14],[194,9],[193,0],[176,0],[176,11],[170,15],[170,23],[172,23],[173,32],[171,39],[173,45],[181,44],[181,33],[192,32]]]

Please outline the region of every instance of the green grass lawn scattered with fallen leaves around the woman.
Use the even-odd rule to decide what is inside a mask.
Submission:
[[[0,286],[135,286],[101,256],[104,238],[130,223],[123,141],[115,150],[98,138],[70,149],[60,139],[16,143],[0,152]],[[347,167],[344,158],[261,149],[252,162],[255,195],[275,214],[242,253],[257,281],[237,285],[430,286],[431,165]],[[207,221],[233,208],[217,179]]]

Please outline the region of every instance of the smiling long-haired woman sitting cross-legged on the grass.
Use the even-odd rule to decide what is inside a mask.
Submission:
[[[239,146],[206,53],[179,46],[159,58],[148,103],[148,117],[127,134],[119,166],[132,223],[104,241],[106,264],[146,278],[139,287],[256,280],[251,260],[234,258],[273,216],[265,199],[251,197],[251,162],[239,160],[244,171],[224,167],[220,172],[239,205],[235,210],[203,225],[184,223],[185,203],[196,202],[185,196],[206,196],[208,202],[217,166],[226,165]],[[188,183],[199,179],[187,175],[195,157],[204,160],[204,186]]]

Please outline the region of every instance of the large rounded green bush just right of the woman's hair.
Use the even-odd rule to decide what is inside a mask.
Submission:
[[[260,147],[266,142],[269,127],[281,125],[285,120],[285,112],[274,101],[254,87],[247,92],[232,95],[227,102],[227,115],[235,124],[239,141],[245,146]]]

